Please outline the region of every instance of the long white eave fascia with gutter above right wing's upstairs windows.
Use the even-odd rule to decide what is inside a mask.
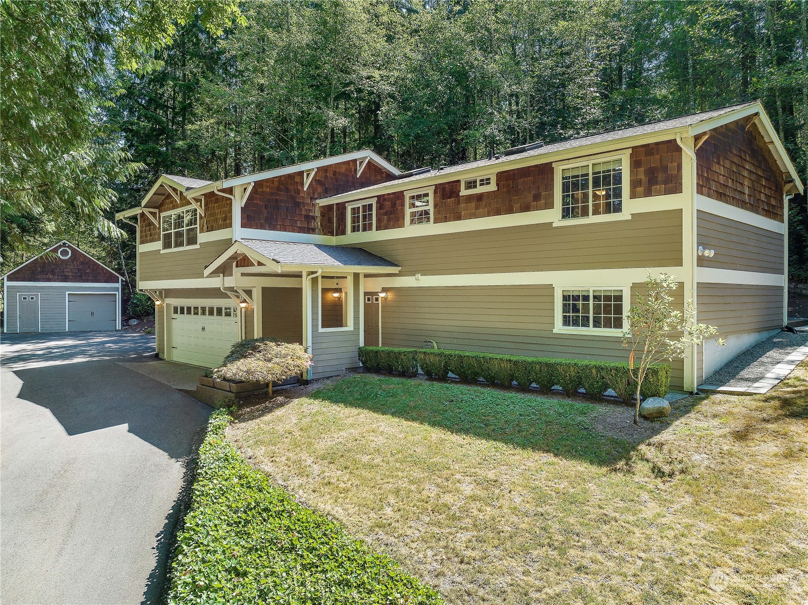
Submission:
[[[469,167],[462,170],[444,172],[443,174],[438,173],[436,175],[424,176],[421,179],[409,180],[403,183],[381,183],[373,187],[340,193],[339,195],[331,197],[321,197],[318,199],[317,203],[321,206],[338,204],[341,201],[358,200],[360,197],[373,197],[381,195],[382,193],[399,192],[409,189],[426,188],[431,185],[441,183],[451,183],[452,181],[462,180],[467,176],[474,176],[475,174],[503,172],[525,166],[533,166],[535,164],[552,163],[558,160],[574,159],[584,155],[598,154],[601,151],[608,151],[612,148],[621,150],[627,146],[633,147],[635,145],[645,145],[646,143],[667,141],[671,138],[675,138],[676,133],[686,133],[687,129],[688,127],[685,125],[678,128],[659,130],[654,133],[635,134],[629,137],[612,139],[611,141],[594,142],[587,145],[569,147],[562,150],[548,151],[546,153],[529,155],[526,158],[507,159],[506,157],[499,160],[494,160],[493,163],[486,164],[484,167]]]

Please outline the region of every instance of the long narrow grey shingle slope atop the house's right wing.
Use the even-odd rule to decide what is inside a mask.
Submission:
[[[554,151],[562,151],[567,149],[574,149],[575,147],[583,147],[586,145],[592,145],[594,143],[601,143],[601,142],[608,142],[608,141],[617,141],[618,139],[625,138],[625,137],[634,137],[640,134],[650,134],[656,133],[667,129],[674,129],[674,128],[681,128],[684,126],[692,126],[698,124],[699,122],[703,122],[705,120],[711,120],[715,117],[722,116],[725,113],[734,112],[737,109],[741,109],[747,107],[749,105],[753,105],[755,102],[751,103],[743,103],[739,105],[733,105],[731,107],[725,107],[720,109],[713,109],[709,112],[701,112],[701,113],[693,113],[689,116],[681,116],[675,117],[671,120],[663,120],[659,122],[651,122],[650,124],[643,124],[640,126],[631,126],[629,128],[619,129],[619,130],[610,130],[606,133],[600,134],[592,134],[588,137],[579,137],[579,138],[572,138],[567,141],[562,141],[558,143],[550,143],[549,145],[538,147],[537,149],[524,151],[520,154],[512,154],[506,155],[501,158],[494,158],[494,159],[479,159],[475,162],[466,162],[462,164],[456,164],[455,166],[447,166],[444,167],[442,170],[432,169],[431,171],[423,172],[419,175],[415,176],[408,176],[404,179],[393,179],[385,181],[384,183],[371,185],[369,187],[364,187],[361,189],[355,189],[351,191],[351,193],[361,193],[364,191],[373,190],[380,187],[389,187],[390,185],[397,185],[397,184],[406,184],[412,181],[427,179],[431,176],[438,176],[438,175],[446,175],[451,174],[452,172],[457,172],[461,170],[469,170],[470,168],[477,168],[477,167],[484,167],[484,166],[495,166],[499,163],[505,162],[512,162],[515,159],[520,158],[529,158],[532,156],[537,155],[544,155],[550,154]],[[327,198],[325,198],[327,199]]]

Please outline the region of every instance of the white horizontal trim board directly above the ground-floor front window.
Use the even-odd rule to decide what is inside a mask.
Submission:
[[[452,286],[555,286],[568,288],[612,287],[615,284],[644,283],[652,275],[667,273],[681,277],[684,267],[636,269],[574,269],[568,271],[523,271],[512,273],[466,273],[462,275],[421,275],[420,277],[365,277],[365,290],[388,288],[440,288]]]

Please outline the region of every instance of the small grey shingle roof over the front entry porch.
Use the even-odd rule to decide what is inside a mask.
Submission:
[[[269,239],[239,239],[255,252],[279,264],[310,264],[322,267],[398,268],[381,256],[360,247],[329,246],[323,243],[279,242]]]

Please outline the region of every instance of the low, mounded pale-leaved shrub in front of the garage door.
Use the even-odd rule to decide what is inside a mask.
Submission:
[[[311,367],[311,355],[297,343],[249,339],[237,342],[225,363],[213,370],[213,378],[246,383],[280,383]]]

